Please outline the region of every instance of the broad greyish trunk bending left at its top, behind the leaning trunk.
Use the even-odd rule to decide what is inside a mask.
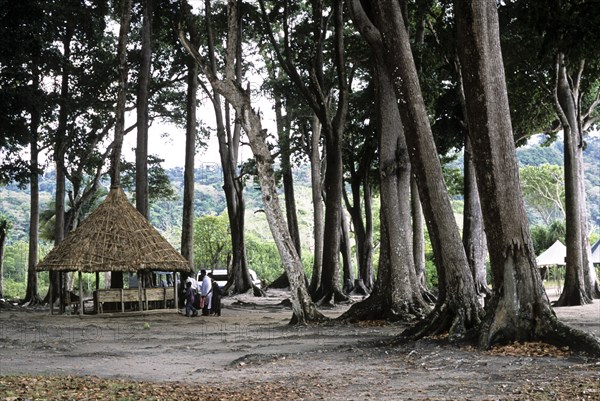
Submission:
[[[410,161],[403,125],[385,68],[381,37],[362,10],[352,3],[353,20],[367,39],[375,60],[379,175],[381,185],[381,251],[371,296],[353,305],[342,319],[412,320],[428,309],[421,297],[412,257],[410,228]]]

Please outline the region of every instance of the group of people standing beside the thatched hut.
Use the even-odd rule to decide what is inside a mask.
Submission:
[[[200,281],[194,285],[192,279],[185,283],[185,316],[221,316],[221,289],[213,279],[212,274],[206,274],[206,270],[200,270]]]

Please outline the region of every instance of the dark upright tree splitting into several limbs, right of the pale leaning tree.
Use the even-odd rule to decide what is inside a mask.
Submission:
[[[323,51],[325,39],[328,37],[328,22],[330,18],[324,17],[324,2],[321,0],[311,2],[310,24],[305,29],[311,32],[310,54],[308,60],[304,60],[307,65],[303,67],[306,77],[303,77],[300,70],[297,54],[291,47],[292,23],[291,13],[297,4],[285,1],[283,7],[274,7],[270,13],[267,13],[265,1],[260,1],[263,19],[267,36],[273,46],[277,59],[281,67],[285,70],[290,80],[296,85],[305,101],[310,105],[316,117],[319,119],[320,127],[323,130],[325,143],[325,161],[326,171],[323,181],[325,193],[325,223],[323,243],[323,259],[321,281],[319,288],[315,293],[315,298],[321,303],[335,302],[336,300],[345,300],[346,296],[341,291],[339,275],[339,253],[340,253],[340,228],[341,228],[341,207],[342,207],[342,134],[348,111],[348,77],[346,74],[345,54],[344,54],[344,18],[343,2],[335,0],[332,5],[333,22],[333,63],[335,65],[335,82],[338,91],[336,100],[337,108],[332,110],[330,87],[327,85],[324,75]],[[281,14],[280,14],[281,13]],[[306,17],[306,16],[305,16]],[[275,38],[272,21],[282,19],[283,26],[283,44],[281,45]],[[305,40],[307,38],[304,38]],[[296,46],[300,44],[294,42]],[[314,132],[313,132],[314,135]]]

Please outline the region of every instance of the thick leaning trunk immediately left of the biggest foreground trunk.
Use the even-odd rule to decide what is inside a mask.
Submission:
[[[405,334],[420,337],[449,332],[451,339],[460,339],[479,324],[482,308],[444,184],[441,165],[435,157],[437,150],[402,10],[399,3],[384,1],[378,1],[375,8],[377,25],[383,38],[385,63],[394,82],[402,123],[407,133],[410,160],[424,205],[423,212],[440,281],[436,308],[422,325]]]

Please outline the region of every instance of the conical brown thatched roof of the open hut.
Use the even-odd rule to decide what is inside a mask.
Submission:
[[[36,270],[191,272],[188,261],[112,187],[104,202]]]

